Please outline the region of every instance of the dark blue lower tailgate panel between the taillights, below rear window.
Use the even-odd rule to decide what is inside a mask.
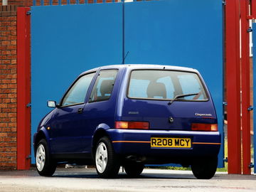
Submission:
[[[150,129],[190,130],[191,123],[217,123],[215,110],[208,102],[124,100],[121,121],[150,122]],[[196,114],[211,114],[208,119]],[[169,117],[173,122],[169,122]]]

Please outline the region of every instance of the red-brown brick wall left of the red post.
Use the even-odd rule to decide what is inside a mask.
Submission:
[[[16,6],[0,6],[0,169],[16,169]]]

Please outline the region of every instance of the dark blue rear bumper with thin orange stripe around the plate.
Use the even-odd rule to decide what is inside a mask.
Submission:
[[[150,156],[153,162],[217,156],[220,150],[219,132],[108,129],[107,133],[117,154]],[[191,138],[191,147],[151,147],[151,137]]]

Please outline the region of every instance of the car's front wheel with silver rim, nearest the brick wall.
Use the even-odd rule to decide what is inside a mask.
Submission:
[[[52,176],[57,164],[50,156],[46,139],[41,139],[36,147],[36,170],[41,176]]]

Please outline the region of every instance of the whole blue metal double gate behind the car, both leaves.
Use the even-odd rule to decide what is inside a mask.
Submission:
[[[125,56],[125,63],[198,69],[213,96],[223,133],[222,6],[220,0],[33,6],[32,134],[49,111],[46,100],[60,100],[83,70],[120,64]]]

